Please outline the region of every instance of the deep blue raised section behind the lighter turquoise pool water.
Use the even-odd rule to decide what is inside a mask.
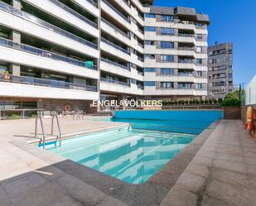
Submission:
[[[99,118],[98,121],[130,122],[137,129],[200,134],[212,122],[222,118],[220,110],[136,110],[115,111],[114,117]]]

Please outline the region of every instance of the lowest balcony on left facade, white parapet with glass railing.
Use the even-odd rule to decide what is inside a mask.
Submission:
[[[68,84],[54,80],[33,79],[9,75],[9,79],[0,76],[0,95],[17,98],[51,99],[99,99],[95,87],[80,84]]]

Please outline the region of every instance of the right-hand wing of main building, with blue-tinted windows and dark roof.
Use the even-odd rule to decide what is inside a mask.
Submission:
[[[186,7],[147,7],[145,12],[144,94],[205,98],[209,17]]]

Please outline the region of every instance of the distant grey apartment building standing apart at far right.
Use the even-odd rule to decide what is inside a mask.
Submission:
[[[233,44],[215,44],[208,48],[208,95],[210,98],[225,98],[234,90]]]

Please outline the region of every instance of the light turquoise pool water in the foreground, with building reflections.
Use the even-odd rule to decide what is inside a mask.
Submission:
[[[63,140],[46,149],[131,184],[141,184],[196,135],[115,129]]]

